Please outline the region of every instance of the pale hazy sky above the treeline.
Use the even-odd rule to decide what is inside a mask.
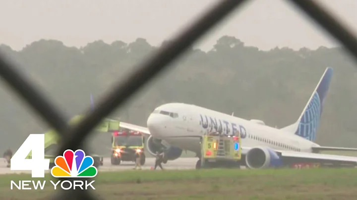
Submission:
[[[357,0],[319,0],[357,32]],[[39,39],[67,46],[146,38],[159,45],[217,0],[0,0],[0,44],[15,50]],[[285,0],[251,0],[198,47],[210,50],[223,35],[269,50],[336,44]]]

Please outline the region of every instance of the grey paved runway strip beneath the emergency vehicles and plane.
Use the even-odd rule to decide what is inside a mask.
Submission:
[[[185,157],[178,158],[176,160],[170,160],[163,167],[168,170],[184,170],[184,169],[194,169],[198,158]],[[150,170],[151,167],[155,165],[155,158],[146,158],[143,170]],[[119,165],[112,165],[110,162],[110,157],[103,158],[103,166],[99,167],[99,171],[122,171],[122,170],[132,170],[134,168],[134,162],[121,162]],[[3,158],[0,158],[0,174],[21,174],[21,173],[31,173],[31,171],[11,171],[10,168],[6,167],[6,162]]]

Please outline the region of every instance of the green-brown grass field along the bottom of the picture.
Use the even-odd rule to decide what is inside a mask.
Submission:
[[[50,183],[43,191],[10,190],[10,180],[33,179],[0,176],[1,200],[50,199],[54,194]],[[93,193],[108,200],[356,200],[357,169],[101,172],[93,185]]]

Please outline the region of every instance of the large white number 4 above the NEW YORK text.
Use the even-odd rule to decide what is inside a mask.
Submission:
[[[31,159],[26,159],[32,151]],[[50,159],[45,159],[45,134],[30,134],[11,158],[11,170],[29,170],[32,178],[44,178],[50,168]]]

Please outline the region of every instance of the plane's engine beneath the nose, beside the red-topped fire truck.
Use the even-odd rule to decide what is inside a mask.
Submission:
[[[164,163],[166,163],[167,160],[175,160],[182,154],[181,149],[170,146],[165,141],[155,139],[152,136],[147,139],[146,149],[152,155],[155,155],[156,151],[164,150]]]

